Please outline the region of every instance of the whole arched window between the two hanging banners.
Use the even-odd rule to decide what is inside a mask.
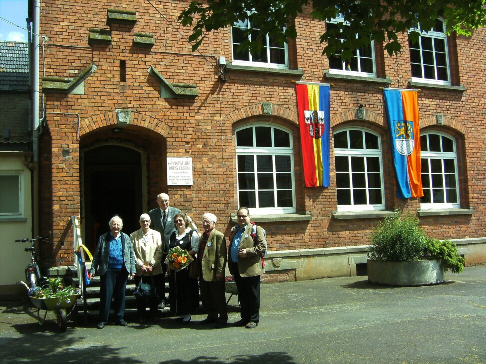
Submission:
[[[381,139],[360,128],[334,133],[338,211],[384,210]]]

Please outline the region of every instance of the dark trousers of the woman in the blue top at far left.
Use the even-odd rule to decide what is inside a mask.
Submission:
[[[125,267],[118,269],[108,268],[100,279],[99,321],[108,322],[111,299],[113,299],[115,322],[119,322],[125,315],[125,291],[126,282],[128,281],[128,271]]]

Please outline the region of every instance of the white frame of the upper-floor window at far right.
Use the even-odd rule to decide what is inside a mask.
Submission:
[[[437,19],[437,20],[442,22],[443,29],[445,30],[446,24],[444,23],[444,20],[442,20],[442,19]],[[412,46],[418,47],[418,48],[414,48],[414,49],[418,49],[419,52],[420,52],[420,63],[414,63],[414,64],[421,66],[422,75],[423,75],[423,77],[412,76],[412,81],[426,82],[426,83],[432,83],[432,84],[437,84],[437,85],[451,85],[451,69],[449,67],[449,49],[448,49],[448,46],[447,46],[447,34],[444,33],[444,32],[438,32],[438,31],[433,31],[433,30],[430,30],[430,31],[422,30],[420,28],[420,24],[416,28],[410,29],[409,33],[412,32],[412,31],[420,32],[420,37],[419,37],[419,40],[417,41],[416,44],[412,45],[411,43],[409,43],[409,52],[412,49]],[[431,41],[432,41],[432,56],[433,56],[433,59],[434,59],[434,65],[433,66],[434,66],[435,79],[425,77],[424,52],[426,52],[428,50],[422,49],[422,40],[424,38],[430,38]],[[437,58],[436,58],[436,54],[438,52],[435,51],[435,44],[434,44],[435,39],[440,39],[440,40],[444,41],[444,52],[445,52],[445,57],[446,57],[446,69],[447,69],[447,81],[438,79],[437,69],[438,69],[439,66],[437,65]],[[412,72],[412,64],[413,64],[412,59],[410,59],[410,70],[411,70],[411,72]]]

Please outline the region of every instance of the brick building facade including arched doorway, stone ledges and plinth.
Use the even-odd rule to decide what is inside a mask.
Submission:
[[[112,2],[99,0],[42,2],[40,226],[52,238],[52,245],[42,249],[45,264],[72,262],[71,216],[81,216],[84,241],[93,247],[115,213],[124,219],[125,232],[137,229],[139,215],[157,206],[161,192],[196,222],[204,212],[214,213],[216,228],[228,235],[235,224],[231,214],[251,200],[251,193],[238,187],[243,180],[237,177],[242,172],[237,155],[277,153],[273,145],[263,151],[257,145],[240,149],[236,134],[246,127],[255,127],[257,139],[260,131],[289,138],[282,152],[290,161],[289,204],[280,208],[277,201],[273,208],[251,209],[253,220],[267,231],[267,280],[356,274],[359,264],[366,263],[371,229],[395,208],[418,213],[431,236],[456,241],[467,264],[486,262],[481,148],[486,72],[477,61],[486,53],[485,29],[470,38],[445,37],[447,77],[440,76],[437,62],[439,76],[431,79],[418,76],[411,66],[417,50],[407,47],[405,35],[398,56],[389,57],[383,44],[372,44],[371,56],[361,55],[363,68],[366,59],[371,68],[343,64],[339,69],[339,62],[336,66],[321,55],[318,39],[326,24],[313,21],[310,9],[295,20],[298,37],[277,62],[272,62],[273,53],[267,61],[235,59],[231,28],[209,34],[199,51],[191,52],[189,29],[177,24],[187,3],[156,1],[152,6],[122,0],[115,9]],[[426,51],[424,42],[418,52]],[[438,60],[440,50],[434,51]],[[296,81],[331,83],[330,187],[304,187]],[[428,176],[455,181],[446,181],[442,192],[440,183],[434,184],[438,190],[431,190],[433,198],[435,192],[446,199],[456,193],[457,198],[421,205],[419,199],[395,197],[381,90],[390,84],[420,89],[421,133],[431,135],[431,146],[436,137],[452,141],[452,154],[441,150],[449,154],[430,157],[453,160],[452,175],[442,171]],[[338,205],[339,153],[333,136],[343,131],[379,141],[380,203]],[[192,185],[167,185],[167,157],[192,157]],[[262,201],[268,192],[264,185],[270,183],[264,182],[261,190],[248,187],[256,188]],[[278,186],[267,187],[279,195]]]

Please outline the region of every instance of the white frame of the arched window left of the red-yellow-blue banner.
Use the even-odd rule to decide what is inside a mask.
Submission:
[[[279,129],[282,130],[286,133],[289,134],[289,141],[290,141],[290,147],[288,148],[281,148],[281,147],[255,147],[255,142],[256,142],[256,128],[257,127],[269,127],[272,129]],[[240,155],[251,155],[254,156],[254,166],[255,166],[255,171],[253,172],[255,175],[255,203],[257,207],[248,207],[250,210],[251,215],[256,215],[256,216],[261,216],[261,215],[267,215],[267,214],[284,214],[284,213],[295,213],[296,212],[296,202],[295,202],[295,168],[294,168],[294,149],[293,149],[293,142],[292,142],[292,132],[286,128],[276,126],[274,124],[270,123],[256,123],[256,124],[250,124],[250,125],[244,125],[240,128],[237,128],[235,130],[235,146],[236,144],[236,133],[240,130],[246,129],[246,128],[252,128],[253,132],[253,147],[236,147],[236,189],[237,189],[237,197],[238,197],[238,205],[240,206],[240,186],[239,186],[239,174],[240,173],[249,173],[246,171],[238,171],[238,156]],[[272,145],[274,145],[274,133],[272,131]],[[290,175],[291,175],[291,193],[292,193],[292,206],[290,207],[259,207],[258,206],[258,178],[257,178],[257,163],[256,163],[256,157],[257,156],[268,156],[271,155],[273,156],[272,161],[273,161],[273,191],[274,191],[274,200],[275,204],[277,205],[277,181],[276,181],[276,169],[275,169],[275,156],[289,156],[290,157]],[[268,172],[267,172],[268,173]]]

